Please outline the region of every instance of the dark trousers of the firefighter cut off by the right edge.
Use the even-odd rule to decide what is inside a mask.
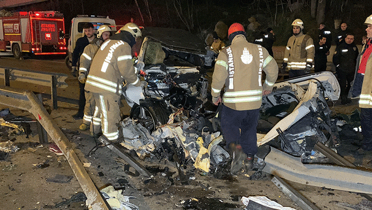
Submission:
[[[360,108],[360,125],[363,135],[363,150],[372,150],[372,108]]]

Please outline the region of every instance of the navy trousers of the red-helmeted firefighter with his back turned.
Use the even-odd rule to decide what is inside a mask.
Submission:
[[[259,109],[237,111],[222,104],[221,130],[226,145],[240,144],[247,155],[257,153],[257,122]]]

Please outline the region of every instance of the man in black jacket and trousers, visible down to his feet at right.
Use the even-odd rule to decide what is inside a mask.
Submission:
[[[350,90],[350,83],[354,78],[358,55],[359,50],[354,44],[354,34],[346,34],[345,43],[337,46],[333,55],[333,64],[336,66],[337,78],[341,88],[341,104],[351,102],[347,98],[347,94]]]

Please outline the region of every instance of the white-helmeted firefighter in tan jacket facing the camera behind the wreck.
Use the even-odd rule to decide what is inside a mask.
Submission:
[[[303,34],[303,22],[295,19],[292,23],[293,36],[288,39],[284,51],[282,72],[290,69],[290,78],[310,73],[314,61],[314,44],[309,35]]]

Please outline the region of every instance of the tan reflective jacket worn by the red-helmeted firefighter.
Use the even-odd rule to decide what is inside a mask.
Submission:
[[[262,82],[262,71],[266,80]],[[225,85],[222,102],[234,110],[261,107],[262,92],[272,91],[278,77],[278,65],[265,48],[234,37],[231,46],[221,50],[212,76],[212,96],[218,97]]]

